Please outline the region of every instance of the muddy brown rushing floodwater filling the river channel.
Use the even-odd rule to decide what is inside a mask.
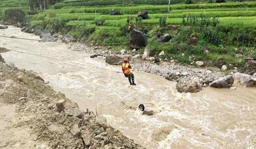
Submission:
[[[0,30],[0,35],[39,39],[11,26]],[[256,148],[256,88],[207,87],[200,93],[180,94],[174,82],[137,71],[138,85],[128,87],[127,79],[116,72],[120,67],[72,52],[65,43],[0,37],[0,47],[93,66],[19,52],[2,53],[7,63],[39,72],[81,109],[95,111],[97,106],[98,115],[104,115],[111,126],[146,148]],[[147,116],[132,110],[139,103],[157,114]]]

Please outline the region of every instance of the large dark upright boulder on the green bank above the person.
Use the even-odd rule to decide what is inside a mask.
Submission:
[[[147,46],[147,39],[144,33],[133,29],[130,32],[129,47],[131,49],[140,49]]]

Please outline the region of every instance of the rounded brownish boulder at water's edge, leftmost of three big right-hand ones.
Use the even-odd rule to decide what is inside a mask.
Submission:
[[[181,79],[176,88],[180,93],[196,93],[202,90],[202,84],[191,79]]]

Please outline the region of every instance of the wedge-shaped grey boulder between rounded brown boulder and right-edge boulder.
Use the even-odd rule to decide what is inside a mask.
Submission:
[[[234,83],[234,79],[231,75],[214,80],[209,85],[216,88],[229,88]]]

